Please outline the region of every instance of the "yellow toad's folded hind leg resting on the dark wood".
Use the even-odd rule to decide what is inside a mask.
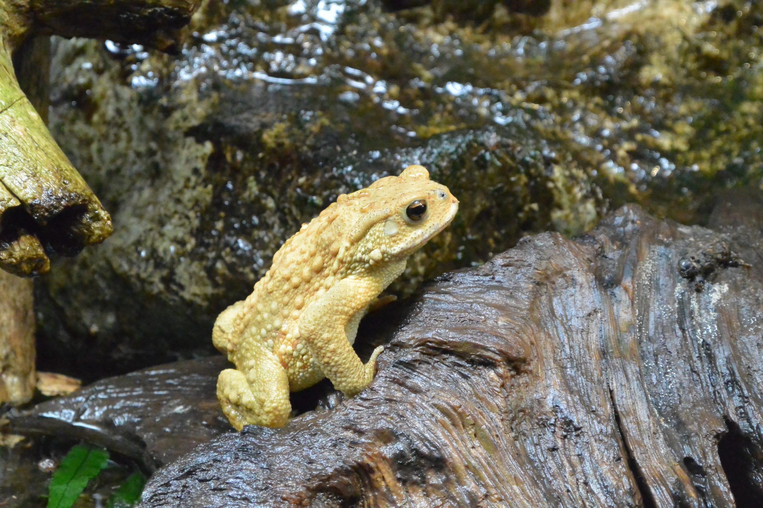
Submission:
[[[217,398],[237,430],[244,425],[283,427],[291,413],[285,369],[273,353],[257,349],[246,362],[246,373],[225,369],[217,378]]]

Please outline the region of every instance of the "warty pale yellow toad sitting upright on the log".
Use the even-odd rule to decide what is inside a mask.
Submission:
[[[374,377],[378,347],[363,365],[353,350],[361,318],[407,257],[456,216],[459,201],[421,166],[342,194],[289,238],[250,296],[217,317],[212,340],[236,369],[217,398],[238,430],[282,427],[289,391],[324,377],[352,396]]]

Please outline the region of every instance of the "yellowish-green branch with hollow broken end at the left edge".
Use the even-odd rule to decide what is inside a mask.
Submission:
[[[14,247],[14,241],[10,241],[14,234],[8,228],[23,229],[16,235],[19,239],[35,235],[37,243],[69,255],[111,234],[108,213],[21,91],[11,64],[11,50],[4,40],[0,40],[0,146],[0,182],[6,196],[5,208],[0,209],[0,224],[4,226],[0,238],[6,253],[0,255],[2,267],[20,275],[34,275],[48,266],[46,262],[30,263],[26,255],[34,253],[33,259],[38,259],[40,249],[36,245],[29,248],[34,241],[25,241],[26,248]],[[14,200],[8,200],[8,194]],[[20,202],[32,219],[26,227],[20,225],[18,216],[8,218],[14,201]],[[8,255],[9,251],[14,254]]]

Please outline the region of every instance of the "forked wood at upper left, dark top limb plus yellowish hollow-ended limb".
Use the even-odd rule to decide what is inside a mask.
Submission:
[[[38,113],[22,91],[13,53],[30,37],[50,34],[172,50],[177,30],[200,2],[0,0],[0,268],[18,276],[45,273],[47,253],[74,255],[104,241],[112,228],[108,212],[50,136],[47,111]],[[48,78],[47,68],[39,70],[44,79],[37,85]]]

